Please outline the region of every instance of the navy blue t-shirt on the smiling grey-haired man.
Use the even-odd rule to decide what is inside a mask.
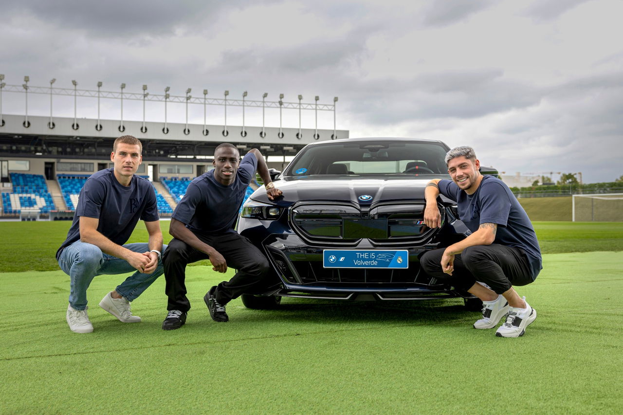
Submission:
[[[465,193],[452,180],[441,180],[438,186],[441,194],[457,201],[459,217],[470,231],[477,231],[483,223],[497,224],[493,243],[523,249],[528,255],[531,277],[536,279],[543,266],[535,229],[526,211],[502,180],[484,175],[473,194]]]

